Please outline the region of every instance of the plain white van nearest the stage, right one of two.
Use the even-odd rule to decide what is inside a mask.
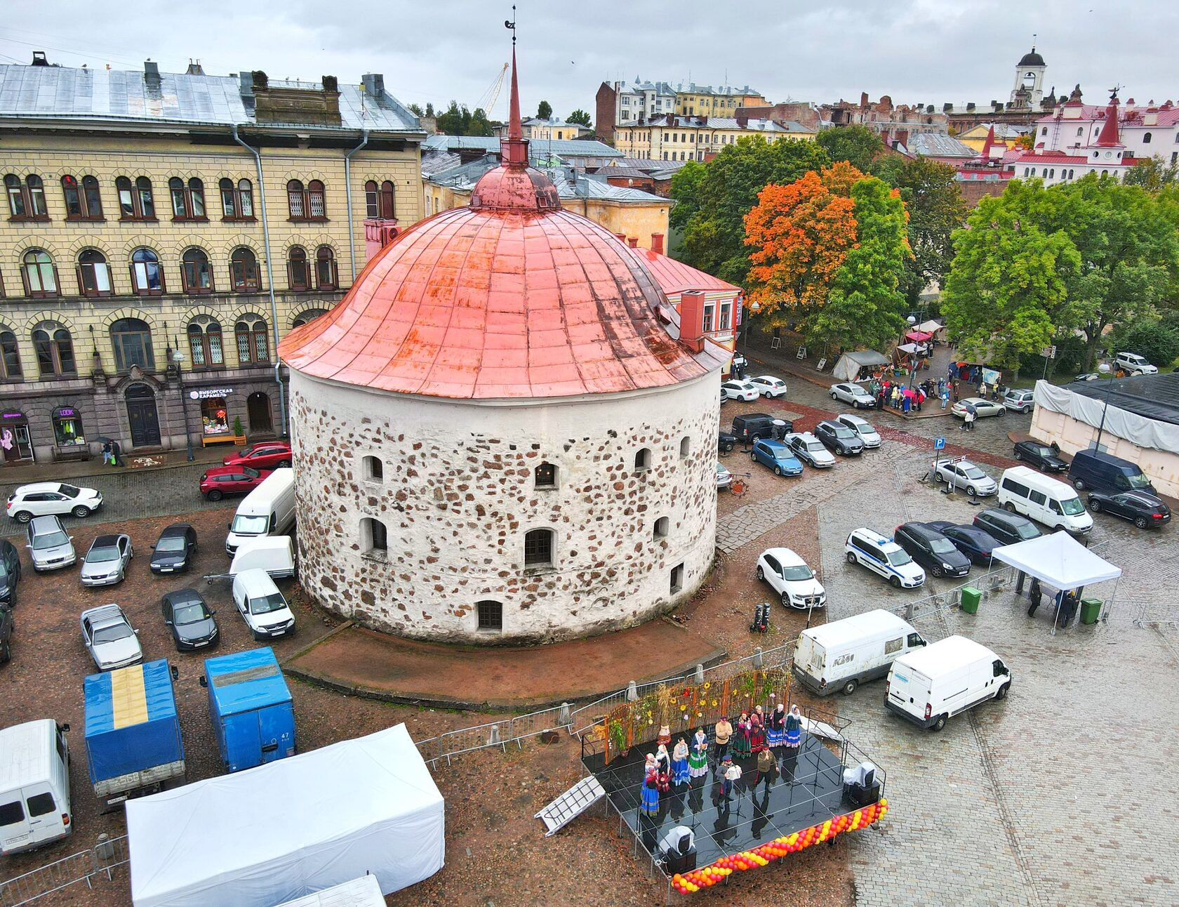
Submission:
[[[941,730],[951,715],[983,699],[1002,699],[1010,689],[1012,672],[997,655],[964,636],[948,636],[893,662],[884,705],[914,724]]]

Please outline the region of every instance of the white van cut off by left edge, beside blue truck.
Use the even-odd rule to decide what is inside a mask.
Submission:
[[[73,832],[68,724],[51,718],[0,730],[0,854],[31,850]]]

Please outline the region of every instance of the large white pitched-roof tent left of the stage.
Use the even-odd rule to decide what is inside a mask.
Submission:
[[[127,801],[134,907],[271,907],[444,856],[443,801],[404,724]]]

